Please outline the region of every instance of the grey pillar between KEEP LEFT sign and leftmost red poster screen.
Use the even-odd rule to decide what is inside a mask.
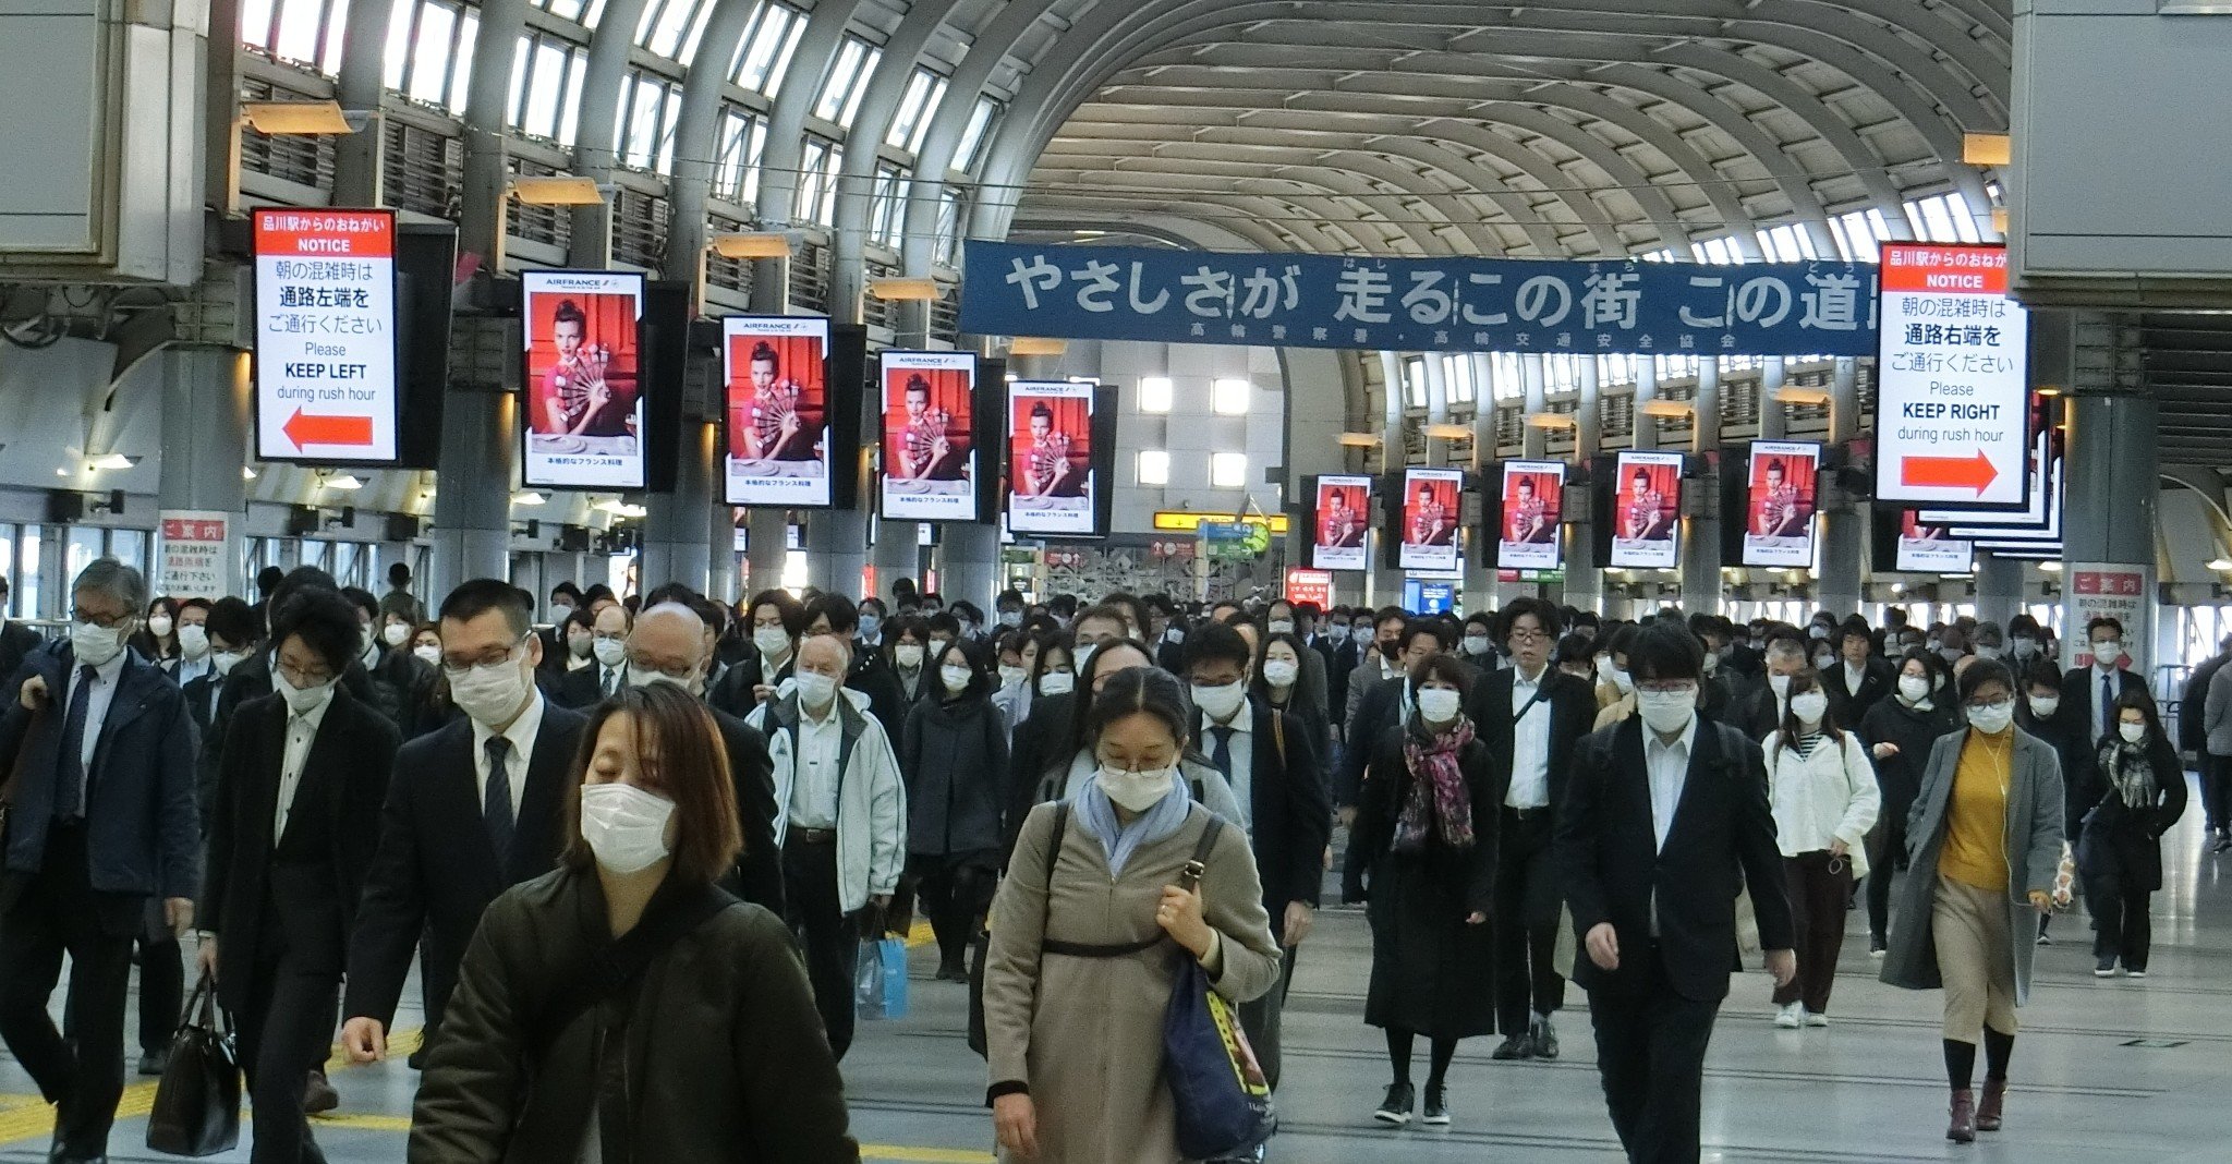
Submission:
[[[442,404],[426,594],[449,594],[466,579],[509,576],[518,424],[513,393],[453,391]]]

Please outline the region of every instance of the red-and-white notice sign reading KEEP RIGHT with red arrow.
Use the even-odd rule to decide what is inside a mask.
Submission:
[[[2022,505],[2031,333],[2007,248],[1882,250],[1875,498]]]

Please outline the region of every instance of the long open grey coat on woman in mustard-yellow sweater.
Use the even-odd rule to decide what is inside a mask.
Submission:
[[[1899,885],[1899,907],[1891,918],[1891,950],[1884,954],[1882,979],[1906,990],[1940,990],[1937,943],[1931,914],[1937,905],[1937,853],[1946,842],[1946,807],[1953,800],[1953,771],[1966,731],[1951,733],[1931,746],[1922,771],[1922,793],[1906,815],[1908,874]],[[2045,740],[2015,728],[2015,760],[2007,784],[2007,927],[2015,952],[2015,1005],[2031,996],[2031,941],[2038,914],[2031,889],[2053,889],[2062,862],[2062,762]]]

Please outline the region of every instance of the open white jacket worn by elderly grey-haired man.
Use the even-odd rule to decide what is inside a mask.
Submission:
[[[859,912],[868,898],[899,887],[906,865],[906,782],[899,780],[899,757],[891,751],[884,726],[868,715],[868,697],[837,688],[837,715],[853,751],[837,777],[837,907]],[[790,789],[797,777],[792,726],[799,717],[799,695],[792,684],[757,708],[743,722],[768,737],[775,760],[775,847],[790,833]]]

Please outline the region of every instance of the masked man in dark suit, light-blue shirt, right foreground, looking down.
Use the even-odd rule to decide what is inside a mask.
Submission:
[[[1627,666],[1636,715],[1576,748],[1556,860],[1582,936],[1574,981],[1589,992],[1612,1126],[1629,1160],[1687,1164],[1736,891],[1752,889],[1777,985],[1797,972],[1790,900],[1759,744],[1696,715],[1696,637],[1647,623]]]

